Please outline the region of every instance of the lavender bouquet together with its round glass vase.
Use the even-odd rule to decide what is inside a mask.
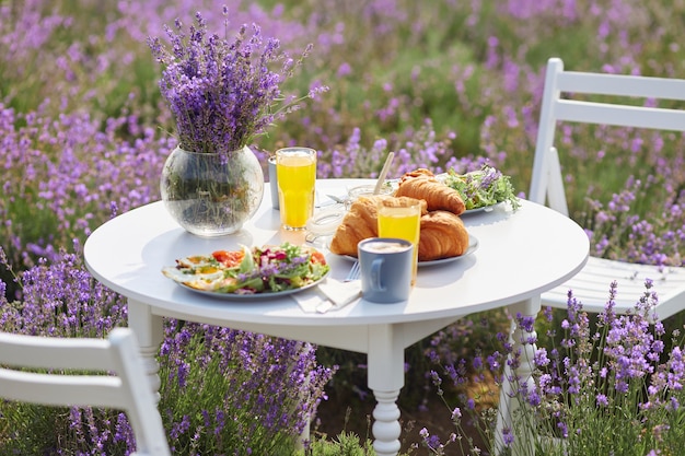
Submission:
[[[224,16],[228,9],[223,8]],[[196,14],[187,35],[176,20],[166,27],[171,49],[149,38],[164,66],[160,90],[176,124],[178,148],[169,156],[160,190],[169,212],[188,232],[204,236],[233,233],[259,207],[262,165],[248,145],[303,98],[286,97],[280,84],[310,51],[293,60],[275,38],[243,25],[233,39],[208,32]],[[280,63],[278,71],[271,67]],[[314,96],[312,91],[307,96]]]

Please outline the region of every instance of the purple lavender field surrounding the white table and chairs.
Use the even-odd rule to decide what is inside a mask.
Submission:
[[[685,78],[682,1],[227,4],[224,30],[221,4],[209,0],[0,0],[0,330],[103,337],[126,325],[125,300],[89,276],[82,246],[112,217],[160,198],[162,164],[176,139],[148,38],[163,39],[164,26],[176,19],[190,24],[201,11],[220,35],[256,23],[293,56],[313,45],[283,91],[301,96],[328,90],[253,145],[265,171],[267,155],[279,147],[314,148],[321,178],[374,177],[393,151],[390,177],[416,167],[461,173],[489,162],[525,196],[549,57],[562,58],[571,70]],[[571,217],[587,229],[591,254],[683,266],[683,136],[562,128],[559,149]],[[609,291],[620,293],[609,283],[606,290],[607,299]],[[457,425],[448,446],[450,432],[437,435],[427,428],[416,447],[405,444],[407,453],[468,453],[467,436],[457,439],[462,412],[457,417],[453,408],[491,411],[488,391],[504,352],[496,334],[508,327],[507,318],[474,316],[408,351],[403,407],[425,409],[439,402],[442,391],[452,411],[434,413]],[[585,325],[576,312],[560,318]],[[664,324],[669,331],[677,329],[680,317]],[[552,329],[558,321],[550,316],[544,325]],[[578,326],[571,328],[576,332],[567,344],[582,336]],[[685,374],[671,362],[680,353],[680,337],[661,327],[640,328],[641,335],[663,336],[664,347],[657,350],[652,337],[643,355],[654,367],[635,376],[648,377],[667,359],[660,369],[673,373],[669,391],[680,394]],[[363,360],[349,353],[184,321],[166,321],[165,330],[160,410],[176,454],[293,454],[305,417],[327,395],[369,395],[358,365]],[[541,347],[556,337],[538,334]],[[266,369],[286,358],[293,360],[290,367]],[[187,363],[190,359],[196,362]],[[480,386],[465,388],[472,373]],[[293,390],[305,400],[295,404]],[[672,402],[680,396],[669,399],[671,406],[660,410],[671,414],[638,420],[649,437],[635,436],[643,446],[626,437],[622,447],[630,453],[622,454],[682,447],[684,432],[657,429],[685,429]],[[344,431],[344,413],[335,432]],[[619,425],[605,418],[596,425]],[[131,439],[126,418],[116,411],[0,404],[0,454],[126,455],[135,448]],[[335,454],[348,454],[339,451]],[[602,454],[590,444],[584,451]]]

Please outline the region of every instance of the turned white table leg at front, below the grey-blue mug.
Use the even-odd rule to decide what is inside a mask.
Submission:
[[[379,456],[399,452],[399,408],[397,397],[404,386],[404,344],[393,325],[369,329],[369,387],[376,406],[373,410],[373,449]]]

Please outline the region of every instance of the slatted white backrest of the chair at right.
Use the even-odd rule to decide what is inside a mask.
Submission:
[[[566,100],[561,94],[685,101],[685,80],[565,71],[560,59],[549,59],[529,199],[547,203],[566,215],[568,203],[559,156],[554,147],[555,130],[559,120],[685,131],[684,110],[634,106],[614,101],[597,103]]]

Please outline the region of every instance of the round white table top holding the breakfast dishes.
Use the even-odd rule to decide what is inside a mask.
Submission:
[[[317,200],[327,200],[326,195],[345,196],[348,188],[369,183],[373,180],[318,179]],[[106,287],[150,305],[159,315],[197,316],[227,325],[355,326],[453,318],[516,303],[564,283],[588,259],[588,236],[578,224],[544,206],[522,201],[515,212],[501,204],[491,212],[464,215],[469,234],[478,239],[477,250],[455,261],[419,268],[407,302],[375,304],[360,299],[339,311],[305,313],[291,296],[230,301],[183,289],[162,274],[163,267],[188,255],[285,241],[302,244],[303,232],[279,229],[279,212],[271,209],[266,187],[255,217],[233,235],[191,235],[161,201],[118,215],[88,238],[86,267]],[[342,279],[351,261],[325,253],[330,277]]]

